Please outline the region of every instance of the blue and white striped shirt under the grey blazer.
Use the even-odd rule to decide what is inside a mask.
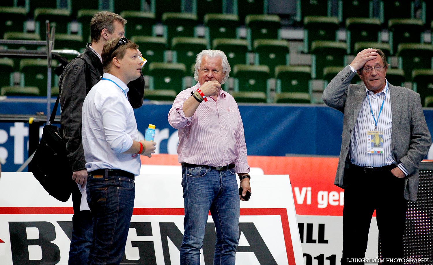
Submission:
[[[353,134],[350,137],[350,162],[360,167],[383,167],[394,164],[395,160],[391,150],[392,113],[388,80],[386,81],[385,88],[376,95],[367,88],[365,88],[365,92],[368,94],[368,97],[365,97],[362,103],[358,118],[355,121]],[[383,154],[367,153],[367,131],[375,130],[375,120],[372,116],[368,100],[370,100],[371,110],[377,120],[377,131],[384,132]],[[382,112],[378,118],[384,100]],[[403,164],[398,164],[398,167],[407,175],[407,170]]]

